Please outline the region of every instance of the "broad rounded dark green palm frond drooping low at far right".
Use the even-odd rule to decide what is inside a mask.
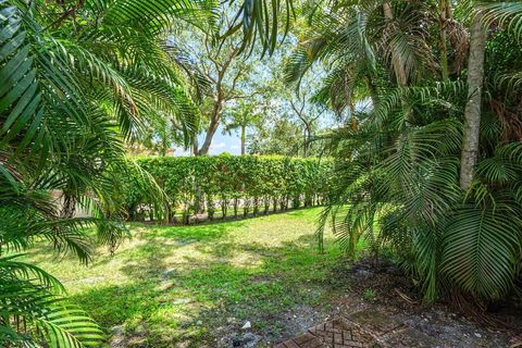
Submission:
[[[483,298],[500,298],[511,288],[517,268],[520,212],[463,206],[444,232],[440,271],[462,290]]]

